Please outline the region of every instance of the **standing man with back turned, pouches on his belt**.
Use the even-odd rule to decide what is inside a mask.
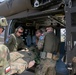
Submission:
[[[40,53],[40,64],[36,68],[35,75],[56,75],[55,65],[56,59],[54,59],[53,53],[57,52],[59,41],[57,37],[54,35],[53,27],[47,25],[46,27],[47,33],[43,35],[43,38],[40,38],[38,43],[38,49],[42,52]]]

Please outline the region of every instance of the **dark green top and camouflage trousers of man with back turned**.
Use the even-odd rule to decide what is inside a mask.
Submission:
[[[53,53],[58,49],[58,43],[54,33],[47,33],[44,38],[41,38],[42,41],[39,41],[38,48],[42,48],[45,53]],[[41,44],[41,46],[40,46]],[[56,75],[55,65],[56,61],[52,58],[41,58],[40,64],[36,68],[35,75]]]

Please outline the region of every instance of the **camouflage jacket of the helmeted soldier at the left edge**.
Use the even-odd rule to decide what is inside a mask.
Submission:
[[[0,45],[0,75],[9,75],[5,70],[10,67],[9,49],[5,45]]]

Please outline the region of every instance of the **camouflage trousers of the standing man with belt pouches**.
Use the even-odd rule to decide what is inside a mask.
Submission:
[[[56,75],[55,65],[56,61],[52,59],[42,59],[36,68],[35,75]]]

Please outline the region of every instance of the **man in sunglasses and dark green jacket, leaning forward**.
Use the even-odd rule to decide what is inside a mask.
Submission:
[[[15,33],[11,34],[8,42],[6,43],[10,52],[17,51],[20,48],[26,49],[26,46],[21,38],[24,29],[22,27],[18,27],[15,29]]]

